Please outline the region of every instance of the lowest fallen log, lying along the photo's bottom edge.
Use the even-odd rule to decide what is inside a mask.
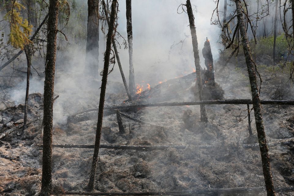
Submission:
[[[153,192],[63,192],[63,195],[104,195],[104,196],[147,196],[147,195],[200,195],[200,194],[233,194],[233,193],[247,193],[247,192],[265,192],[263,187],[237,187],[237,188],[221,188],[221,189],[198,189],[198,190],[179,190],[179,191],[153,191]],[[293,192],[294,187],[280,187],[276,192]]]

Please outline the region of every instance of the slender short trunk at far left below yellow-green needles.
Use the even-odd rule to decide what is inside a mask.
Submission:
[[[26,45],[24,47],[25,50],[25,56],[27,58],[27,87],[25,91],[25,116],[24,116],[24,127],[23,130],[25,130],[25,126],[27,124],[28,119],[28,92],[30,88],[30,74],[31,74],[31,65],[32,65],[32,51],[30,45]]]

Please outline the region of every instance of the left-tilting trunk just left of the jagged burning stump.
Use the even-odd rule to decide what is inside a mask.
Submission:
[[[200,59],[199,59],[196,28],[194,25],[194,15],[193,15],[193,10],[192,10],[190,0],[187,0],[186,7],[187,7],[187,13],[188,13],[188,17],[189,17],[191,36],[192,36],[192,45],[193,45],[193,51],[194,51],[199,100],[202,101],[203,100],[203,93],[202,93],[201,66],[200,66]],[[206,115],[206,110],[205,110],[204,105],[200,105],[200,119],[202,122],[207,122],[207,115]]]

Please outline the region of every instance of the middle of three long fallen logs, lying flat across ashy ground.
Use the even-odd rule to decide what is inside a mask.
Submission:
[[[269,147],[277,146],[277,145],[289,145],[291,142],[294,141],[294,138],[289,138],[285,140],[279,140],[278,142],[268,143]],[[94,148],[94,145],[88,144],[52,144],[55,148]],[[243,148],[254,148],[258,147],[259,144],[243,144]],[[43,147],[42,144],[32,144],[31,147]],[[125,149],[125,150],[165,150],[168,148],[175,148],[175,149],[185,149],[190,147],[189,145],[161,145],[161,146],[143,146],[143,145],[105,145],[101,144],[100,148],[104,149]],[[198,145],[195,146],[197,149],[211,149],[211,148],[218,148],[219,146],[213,145]]]

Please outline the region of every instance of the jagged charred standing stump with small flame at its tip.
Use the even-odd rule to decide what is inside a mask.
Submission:
[[[204,42],[204,48],[202,49],[202,55],[205,59],[205,66],[207,68],[205,83],[210,85],[214,85],[214,68],[213,68],[213,57],[211,53],[210,43],[206,37],[206,41]]]

